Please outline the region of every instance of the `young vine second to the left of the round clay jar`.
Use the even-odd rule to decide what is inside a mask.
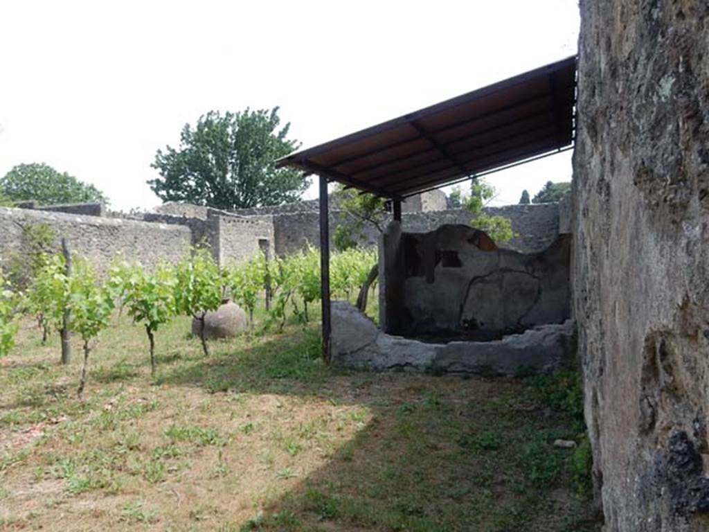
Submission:
[[[125,279],[123,301],[128,316],[145,326],[150,343],[150,374],[155,375],[155,332],[176,314],[174,270],[161,265],[151,274],[134,266],[130,275],[119,278]]]

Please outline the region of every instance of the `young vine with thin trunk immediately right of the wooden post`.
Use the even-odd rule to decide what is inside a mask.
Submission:
[[[69,277],[72,320],[69,322],[69,328],[81,336],[84,345],[84,364],[77,390],[77,396],[81,399],[86,387],[89,353],[94,348],[92,342],[110,324],[114,298],[108,285],[99,284],[94,269],[88,261],[81,257],[72,257],[72,260],[74,260],[74,270]]]

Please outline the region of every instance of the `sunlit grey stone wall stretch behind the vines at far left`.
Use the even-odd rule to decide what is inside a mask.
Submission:
[[[1,254],[21,248],[23,226],[40,223],[50,225],[57,239],[68,238],[72,250],[91,260],[99,272],[118,253],[145,267],[161,260],[177,262],[191,243],[189,228],[182,226],[0,207]]]

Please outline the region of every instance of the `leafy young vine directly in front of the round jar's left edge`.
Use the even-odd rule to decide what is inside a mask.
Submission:
[[[208,250],[195,250],[175,269],[174,287],[177,314],[191,316],[199,321],[199,339],[204,355],[209,348],[204,333],[204,318],[209,311],[219,308],[223,297],[223,278],[218,265]]]

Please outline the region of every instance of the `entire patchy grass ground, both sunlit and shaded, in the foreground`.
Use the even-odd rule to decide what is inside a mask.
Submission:
[[[591,531],[528,382],[328,370],[313,326],[211,344],[126,318],[0,360],[0,530]]]

